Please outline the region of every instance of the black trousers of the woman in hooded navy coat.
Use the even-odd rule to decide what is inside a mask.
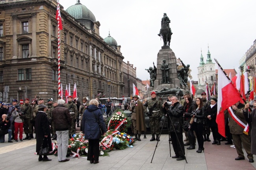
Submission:
[[[87,160],[88,161],[98,161],[99,160],[99,153],[100,153],[100,139],[89,139],[89,147],[88,147],[88,154]]]

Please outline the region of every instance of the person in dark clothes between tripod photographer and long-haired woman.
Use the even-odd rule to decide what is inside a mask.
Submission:
[[[192,100],[192,98],[190,96],[187,96],[185,98],[185,104],[184,104],[184,121],[190,121],[191,119],[191,113],[192,111],[195,110],[196,108],[196,103],[195,101]],[[184,146],[188,146],[190,145],[187,149],[191,150],[191,149],[195,149],[195,134],[193,132],[193,130],[189,130],[187,132],[187,137],[189,139],[189,142],[185,143]]]

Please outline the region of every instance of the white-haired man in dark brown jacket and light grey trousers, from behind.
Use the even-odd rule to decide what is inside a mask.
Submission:
[[[58,106],[52,110],[52,121],[57,135],[58,142],[58,160],[59,162],[67,162],[66,157],[69,145],[69,126],[71,126],[72,119],[70,117],[69,109],[64,106],[63,99],[58,100]]]

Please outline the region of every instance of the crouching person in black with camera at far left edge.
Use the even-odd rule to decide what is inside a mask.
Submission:
[[[10,118],[7,117],[6,114],[2,115],[2,119],[0,119],[0,143],[4,143],[4,135],[6,135],[8,133],[8,142],[9,143],[13,143],[13,141],[11,141],[11,133],[12,130],[9,129],[9,127],[11,126],[11,121]]]

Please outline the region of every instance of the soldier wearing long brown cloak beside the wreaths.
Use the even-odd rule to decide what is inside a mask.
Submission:
[[[132,132],[135,134],[135,139],[141,141],[141,131],[145,131],[146,128],[143,104],[138,99],[138,95],[134,95],[129,110],[132,112]]]

